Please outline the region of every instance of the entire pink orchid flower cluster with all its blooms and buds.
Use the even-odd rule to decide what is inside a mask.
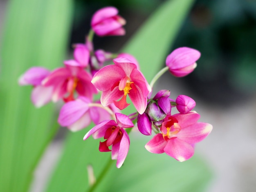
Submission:
[[[127,129],[137,127],[144,135],[155,136],[145,145],[152,153],[166,153],[178,161],[185,161],[194,153],[195,143],[202,141],[212,130],[212,125],[198,122],[200,115],[192,111],[195,101],[189,96],[170,98],[169,90],[159,90],[151,97],[153,85],[165,72],[183,77],[196,67],[200,52],[188,47],[175,49],[166,58],[166,67],[148,84],[139,70],[134,56],[128,53],[113,54],[102,49],[94,51],[93,35],[121,36],[125,34],[124,18],[115,7],[105,7],[94,13],[91,31],[86,42],[74,45],[74,59],[65,60],[64,66],[53,71],[32,67],[20,78],[20,85],[32,85],[31,100],[41,107],[50,100],[63,100],[58,123],[71,131],[96,125],[84,136],[86,140],[102,138],[99,151],[112,151],[121,167],[128,154],[130,139]],[[114,65],[105,65],[113,60]],[[100,100],[94,95],[101,93]],[[129,96],[136,112],[121,113],[128,107]],[[177,114],[171,114],[176,107]],[[137,122],[137,126],[135,125]],[[110,149],[110,146],[111,149]]]

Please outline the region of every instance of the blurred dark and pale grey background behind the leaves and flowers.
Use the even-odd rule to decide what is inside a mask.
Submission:
[[[117,7],[126,18],[127,34],[95,36],[95,49],[120,50],[162,2],[76,0],[67,50],[72,54],[72,44],[84,42],[92,14],[108,5]],[[0,0],[0,27],[6,5],[6,0]],[[1,32],[0,28],[0,36]],[[213,125],[213,131],[197,145],[196,151],[213,172],[206,191],[253,192],[256,188],[256,1],[196,0],[169,53],[185,46],[201,52],[198,67],[185,78],[164,74],[157,88],[170,89],[172,98],[179,94],[191,96],[197,102],[195,110],[201,114],[200,121]],[[43,189],[61,153],[64,135],[65,129],[61,129],[48,147],[31,192]]]

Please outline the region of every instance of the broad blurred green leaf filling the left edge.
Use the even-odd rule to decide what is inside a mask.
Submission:
[[[18,77],[35,65],[61,65],[71,10],[71,0],[8,1],[0,52],[0,191],[28,190],[33,169],[56,132],[53,105],[35,109],[32,87],[20,87]]]

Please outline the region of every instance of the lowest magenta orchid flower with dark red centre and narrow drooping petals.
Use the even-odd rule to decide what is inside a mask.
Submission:
[[[117,159],[117,168],[120,168],[128,154],[130,139],[124,128],[133,127],[130,118],[124,114],[116,113],[117,123],[114,120],[105,120],[93,127],[85,136],[83,140],[90,135],[94,139],[103,137],[106,141],[100,142],[99,151],[109,152],[110,145],[112,145],[112,159]]]

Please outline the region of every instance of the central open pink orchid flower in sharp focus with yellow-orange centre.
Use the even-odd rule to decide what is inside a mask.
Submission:
[[[130,105],[126,102],[128,94],[139,114],[143,114],[151,92],[148,82],[127,58],[115,58],[113,62],[115,65],[103,67],[92,78],[92,84],[102,91],[101,104],[105,107],[114,103],[122,110]]]

